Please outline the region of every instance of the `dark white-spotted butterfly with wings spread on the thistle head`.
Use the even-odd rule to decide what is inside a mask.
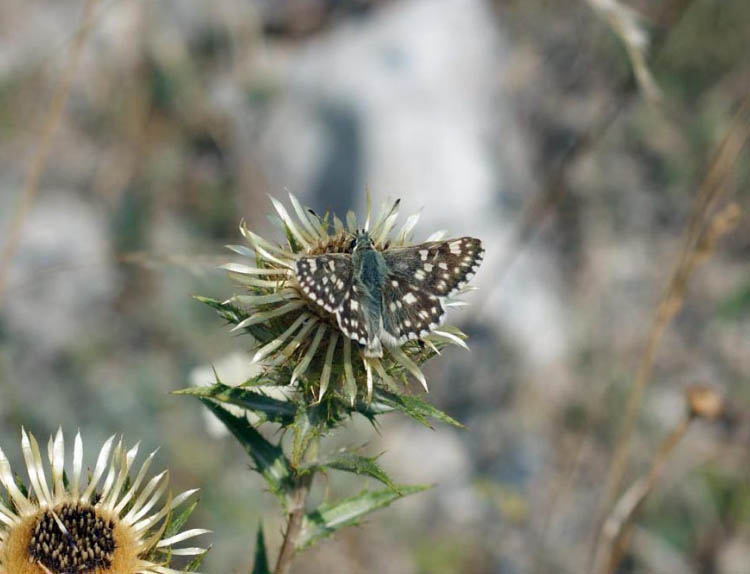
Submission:
[[[381,251],[366,231],[356,232],[350,249],[300,257],[295,275],[307,298],[364,345],[366,357],[382,357],[384,345],[399,347],[439,327],[444,298],[466,285],[484,256],[473,237]]]

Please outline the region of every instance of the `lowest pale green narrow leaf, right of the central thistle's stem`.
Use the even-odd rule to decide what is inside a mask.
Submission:
[[[393,501],[409,494],[422,492],[429,485],[399,486],[393,489],[368,491],[340,500],[332,504],[321,504],[316,510],[308,513],[302,522],[302,532],[297,539],[297,549],[301,550],[315,542],[330,536],[337,530],[357,524],[359,520],[377,510],[388,506]]]

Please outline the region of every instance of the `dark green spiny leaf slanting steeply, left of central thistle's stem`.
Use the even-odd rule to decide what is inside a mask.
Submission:
[[[245,417],[236,417],[209,399],[201,398],[199,400],[224,423],[224,426],[242,444],[250,458],[253,459],[256,470],[266,479],[271,492],[284,504],[284,494],[289,488],[291,470],[289,461],[284,456],[281,447],[268,442],[247,422]]]

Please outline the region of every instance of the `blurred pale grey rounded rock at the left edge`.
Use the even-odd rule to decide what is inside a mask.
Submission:
[[[104,327],[116,276],[102,215],[72,192],[42,190],[24,222],[1,312],[36,360]]]

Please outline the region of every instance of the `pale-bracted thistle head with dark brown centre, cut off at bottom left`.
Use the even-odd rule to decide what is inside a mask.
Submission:
[[[169,567],[172,556],[206,552],[204,548],[172,548],[208,532],[171,532],[184,521],[180,517],[173,522],[173,510],[197,491],[174,498],[168,494],[164,501],[167,471],[144,484],[156,453],[131,478],[138,445],[126,450],[122,440],[116,445],[114,440],[110,437],[102,446],[86,486],[81,476],[80,434],[73,445],[70,481],[64,471],[62,431],[50,437],[49,483],[36,439],[22,430],[28,490],[16,481],[0,449],[0,483],[7,495],[5,500],[0,496],[0,574],[180,574],[183,570]]]

